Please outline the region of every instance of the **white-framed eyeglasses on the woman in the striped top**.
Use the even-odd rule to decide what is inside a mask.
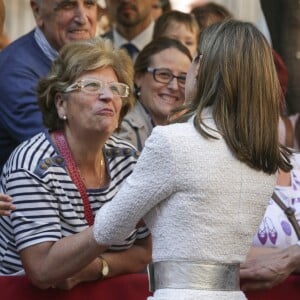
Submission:
[[[65,89],[65,93],[70,93],[76,90],[81,90],[86,94],[99,94],[103,91],[104,87],[107,86],[114,96],[128,97],[129,86],[121,82],[103,82],[97,79],[82,79],[68,86]]]

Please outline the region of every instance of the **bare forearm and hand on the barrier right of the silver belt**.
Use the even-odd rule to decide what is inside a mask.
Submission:
[[[300,247],[298,245],[269,253],[257,255],[241,265],[241,289],[270,289],[283,282],[291,273],[297,272],[300,265]]]

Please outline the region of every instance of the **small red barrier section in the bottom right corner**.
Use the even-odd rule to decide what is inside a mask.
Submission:
[[[270,290],[247,292],[248,300],[299,300],[300,276],[293,275]]]

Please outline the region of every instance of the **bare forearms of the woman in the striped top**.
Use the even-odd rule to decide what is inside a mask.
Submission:
[[[42,289],[69,290],[80,282],[101,278],[102,262],[98,257],[106,248],[95,242],[90,227],[57,242],[25,248],[20,255],[33,284]],[[139,272],[151,260],[151,237],[136,240],[128,250],[105,252],[101,256],[109,265],[107,277]]]

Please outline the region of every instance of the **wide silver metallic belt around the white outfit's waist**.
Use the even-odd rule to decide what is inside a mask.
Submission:
[[[149,290],[197,289],[239,291],[240,265],[213,262],[161,261],[148,266]]]

